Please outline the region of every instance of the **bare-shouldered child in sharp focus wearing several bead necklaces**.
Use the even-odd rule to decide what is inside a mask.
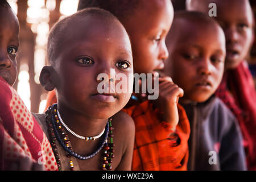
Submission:
[[[40,82],[56,90],[57,105],[38,118],[49,131],[59,170],[130,170],[134,122],[120,110],[131,90],[101,94],[97,88],[104,81],[119,84],[110,69],[133,74],[125,28],[108,11],[78,11],[52,28],[47,59],[50,66],[42,69]],[[109,80],[99,79],[100,73]]]

